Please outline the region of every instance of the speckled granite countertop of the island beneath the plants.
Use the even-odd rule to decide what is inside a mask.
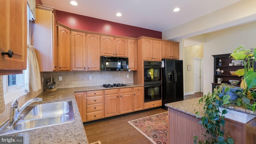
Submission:
[[[178,101],[178,102],[172,102],[172,103],[165,104],[165,106],[168,108],[172,108],[174,110],[178,110],[185,114],[188,114],[190,116],[196,117],[195,113],[197,111],[202,111],[203,106],[204,106],[203,102],[198,104],[200,98],[202,98],[202,97],[192,98],[192,99],[188,99],[188,100],[182,100],[182,101]],[[227,109],[256,116],[256,113],[253,113],[252,110],[248,110],[242,106],[228,106]]]

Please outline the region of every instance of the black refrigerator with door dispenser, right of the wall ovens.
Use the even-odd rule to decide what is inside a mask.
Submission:
[[[164,104],[184,100],[183,61],[162,60],[162,108]]]

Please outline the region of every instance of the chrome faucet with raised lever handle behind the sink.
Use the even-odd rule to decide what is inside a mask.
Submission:
[[[32,98],[31,100],[28,100],[22,107],[19,108],[18,106],[18,99],[28,93],[22,94],[15,98],[15,100],[11,104],[11,109],[10,109],[10,125],[9,128],[12,128],[20,118],[18,117],[19,114],[30,104],[33,102],[42,102],[42,98]]]

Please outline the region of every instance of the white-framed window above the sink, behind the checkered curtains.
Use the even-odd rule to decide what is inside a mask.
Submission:
[[[30,8],[27,6],[27,43],[30,44]],[[27,63],[28,65],[28,63]],[[28,66],[27,66],[28,68]],[[21,94],[26,93],[28,86],[28,69],[22,74],[10,74],[3,76],[4,102],[8,104]]]

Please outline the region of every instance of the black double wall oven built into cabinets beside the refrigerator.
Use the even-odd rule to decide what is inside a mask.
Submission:
[[[162,99],[161,64],[144,61],[144,102]]]

